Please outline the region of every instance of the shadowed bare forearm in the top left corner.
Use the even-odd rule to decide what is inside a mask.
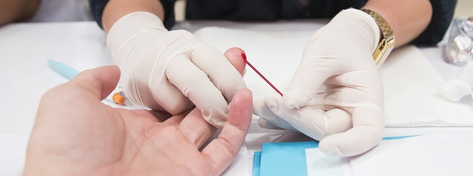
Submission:
[[[0,0],[0,25],[30,19],[40,3],[40,0]]]

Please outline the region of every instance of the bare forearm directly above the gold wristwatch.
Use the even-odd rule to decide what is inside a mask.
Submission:
[[[363,7],[380,14],[396,37],[395,47],[403,46],[419,36],[432,18],[429,0],[370,0]]]

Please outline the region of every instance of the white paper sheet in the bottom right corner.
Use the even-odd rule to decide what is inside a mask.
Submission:
[[[471,175],[473,131],[382,140],[368,152],[344,158],[345,175]]]

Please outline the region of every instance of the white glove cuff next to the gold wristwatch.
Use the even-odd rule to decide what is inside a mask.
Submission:
[[[376,47],[378,46],[379,40],[380,40],[380,31],[379,31],[379,26],[374,21],[374,19],[366,14],[363,11],[357,10],[357,9],[346,9],[340,11],[333,19],[334,20],[349,20],[355,23],[361,23],[364,24],[367,28],[366,31],[362,31],[363,29],[359,29],[360,32],[365,32],[364,34],[367,34],[366,37],[371,37],[373,41],[370,45],[371,48],[371,53],[373,53],[376,50]]]

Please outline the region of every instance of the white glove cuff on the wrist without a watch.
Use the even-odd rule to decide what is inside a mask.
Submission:
[[[120,51],[127,43],[142,32],[168,31],[163,21],[149,12],[132,12],[118,19],[107,34],[107,49],[114,62],[120,65],[117,59]]]

